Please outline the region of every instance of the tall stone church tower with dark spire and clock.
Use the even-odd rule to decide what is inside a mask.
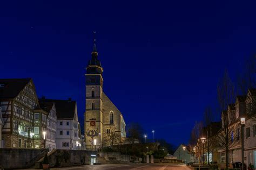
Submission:
[[[94,32],[95,34],[95,32]],[[86,67],[84,131],[86,149],[102,145],[103,134],[103,68],[98,60],[96,39],[93,39],[91,60]],[[96,146],[95,146],[96,143]]]

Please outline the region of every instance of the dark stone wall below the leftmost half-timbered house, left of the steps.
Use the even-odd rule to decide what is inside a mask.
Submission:
[[[47,149],[0,148],[0,167],[29,168],[44,157]]]

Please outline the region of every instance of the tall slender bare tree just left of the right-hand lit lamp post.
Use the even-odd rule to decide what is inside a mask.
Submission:
[[[230,148],[234,146],[234,139],[238,132],[238,123],[236,123],[235,114],[233,112],[232,104],[235,98],[234,85],[225,71],[223,78],[218,84],[218,101],[221,113],[221,129],[218,133],[219,145],[221,150],[226,153],[226,168],[228,168],[228,153]]]

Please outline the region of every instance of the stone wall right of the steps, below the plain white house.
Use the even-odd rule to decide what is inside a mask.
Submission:
[[[51,168],[91,164],[91,155],[97,155],[97,152],[84,150],[53,150],[48,153],[49,166]],[[43,158],[37,161],[36,168],[42,168],[42,162]]]

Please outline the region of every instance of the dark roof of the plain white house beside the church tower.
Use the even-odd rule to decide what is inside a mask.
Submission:
[[[53,100],[53,99],[40,99],[41,103],[54,103],[56,108],[57,119],[74,119],[76,113],[76,101],[70,100]]]

